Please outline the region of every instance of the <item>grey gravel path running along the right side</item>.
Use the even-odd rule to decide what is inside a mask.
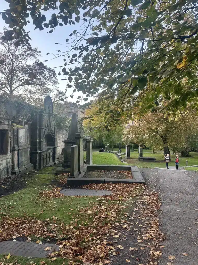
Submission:
[[[159,191],[161,231],[167,240],[160,265],[198,264],[198,174],[192,171],[140,169],[148,185]],[[188,254],[186,257],[182,253]]]

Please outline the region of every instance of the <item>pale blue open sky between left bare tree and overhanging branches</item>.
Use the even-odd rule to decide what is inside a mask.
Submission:
[[[9,3],[7,3],[6,1],[0,0],[1,2],[1,10],[3,11],[4,9],[8,9],[9,8]],[[51,14],[55,13],[54,10],[52,11],[47,11],[44,12],[45,16],[46,16],[46,21],[48,22],[48,20],[51,18]],[[60,45],[56,45],[55,42],[58,43],[65,43],[65,39],[70,38],[69,34],[72,33],[75,29],[79,30],[80,27],[80,23],[76,23],[75,25],[63,25],[63,27],[59,27],[57,26],[55,28],[55,31],[53,33],[48,33],[49,28],[44,28],[44,30],[39,30],[36,29],[34,30],[35,26],[32,23],[31,17],[30,17],[30,24],[28,24],[25,28],[26,31],[30,31],[29,36],[32,39],[30,41],[30,44],[32,47],[38,47],[38,49],[41,51],[41,56],[39,58],[40,61],[44,61],[44,60],[49,60],[51,58],[53,58],[52,55],[46,55],[47,52],[53,52],[55,54],[57,54],[57,52],[55,50],[59,50],[62,49],[63,51],[64,49],[64,45],[60,46]],[[4,20],[2,19],[1,15],[0,15],[0,32],[3,32],[3,27],[7,27],[8,28],[8,24],[4,23]],[[9,28],[8,28],[9,29]],[[51,57],[50,57],[51,56]],[[63,65],[63,57],[60,58],[56,58],[53,60],[50,60],[48,62],[44,62],[48,67],[57,67],[57,66],[61,66]],[[59,89],[65,92],[65,88],[67,86],[67,81],[61,81],[62,78],[65,78],[65,76],[63,77],[58,76],[58,72],[59,72],[59,68],[55,68],[54,69],[56,71],[57,74],[57,78],[59,80]],[[81,95],[81,93],[79,92],[75,92],[73,95],[73,99],[69,97],[70,94],[72,94],[72,90],[74,89],[74,87],[71,88],[67,88],[67,96],[68,96],[68,101],[72,101],[72,102],[76,102],[77,97],[79,95]],[[92,99],[92,98],[89,98]],[[82,102],[80,104],[84,104],[85,102],[82,100]]]

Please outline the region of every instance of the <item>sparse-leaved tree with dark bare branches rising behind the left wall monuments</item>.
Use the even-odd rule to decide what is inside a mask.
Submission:
[[[38,56],[37,48],[21,46],[16,34],[4,28],[4,34],[0,34],[1,95],[43,106],[44,97],[53,92],[58,80],[55,71],[40,62]],[[56,90],[55,98],[63,98],[63,94]]]

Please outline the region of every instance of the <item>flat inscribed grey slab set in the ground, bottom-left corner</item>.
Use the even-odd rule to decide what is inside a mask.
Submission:
[[[51,250],[44,249],[51,247]],[[54,250],[55,248],[55,250]],[[49,253],[58,251],[59,247],[55,244],[36,244],[34,242],[3,241],[0,242],[0,254],[8,254],[23,257],[45,258]]]

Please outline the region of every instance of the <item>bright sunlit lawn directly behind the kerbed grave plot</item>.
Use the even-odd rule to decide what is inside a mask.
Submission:
[[[84,159],[86,159],[86,152],[84,152]],[[123,163],[111,153],[93,152],[93,164],[97,165],[123,165]]]

